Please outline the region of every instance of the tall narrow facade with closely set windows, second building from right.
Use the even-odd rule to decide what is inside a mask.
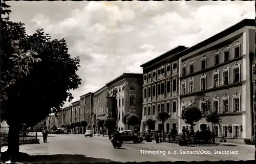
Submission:
[[[173,50],[141,65],[143,68],[143,112],[140,131],[146,131],[144,124],[147,119],[156,121],[155,130],[178,130],[180,113],[178,97],[179,56],[177,53],[187,49],[177,46]],[[157,121],[160,112],[168,112],[171,116],[165,122]]]

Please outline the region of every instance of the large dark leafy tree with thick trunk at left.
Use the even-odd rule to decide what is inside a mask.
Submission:
[[[76,74],[80,61],[78,57],[72,58],[68,54],[65,39],[52,40],[42,29],[37,30],[33,35],[27,35],[21,22],[6,24],[1,22],[1,24],[1,71],[5,71],[6,74],[10,72],[6,77],[2,74],[1,79],[2,86],[8,86],[3,88],[4,91],[1,90],[2,95],[8,96],[8,99],[2,101],[1,121],[6,120],[9,125],[8,152],[14,155],[19,152],[17,124],[26,123],[28,126],[34,126],[44,120],[51,109],[57,112],[66,100],[70,102],[73,99],[70,90],[77,89],[81,84],[81,79]],[[22,54],[29,58],[20,62],[23,58]],[[38,59],[35,60],[30,55],[32,57],[37,55]],[[15,74],[11,74],[12,70],[17,72],[20,78],[12,78],[16,77]],[[9,81],[13,85],[9,85]],[[36,113],[35,106],[37,106]],[[31,113],[35,113],[33,117],[30,116]]]

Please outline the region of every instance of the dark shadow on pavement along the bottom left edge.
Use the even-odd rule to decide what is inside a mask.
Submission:
[[[22,163],[80,163],[80,162],[113,162],[113,160],[105,158],[93,158],[79,154],[54,154],[54,155],[28,155],[27,153],[19,153],[13,159],[13,162]]]

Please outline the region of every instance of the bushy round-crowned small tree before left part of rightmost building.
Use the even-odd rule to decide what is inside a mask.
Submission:
[[[197,106],[191,104],[182,110],[181,119],[184,120],[186,124],[191,126],[191,132],[194,135],[194,126],[196,125],[194,123],[202,119],[202,113]]]

